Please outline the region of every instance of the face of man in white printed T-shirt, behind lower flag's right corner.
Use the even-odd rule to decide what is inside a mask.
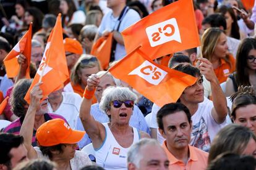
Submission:
[[[196,77],[198,78],[197,82],[192,86],[187,87],[181,94],[180,99],[184,105],[203,102],[203,79],[200,76]]]

